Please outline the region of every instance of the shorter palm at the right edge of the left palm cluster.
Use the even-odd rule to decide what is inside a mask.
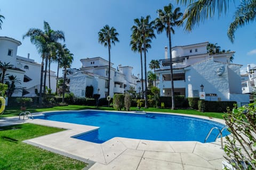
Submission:
[[[69,50],[66,48],[65,49],[65,55],[61,58],[60,61],[60,66],[64,69],[64,79],[63,79],[63,84],[62,84],[62,103],[64,102],[64,97],[65,97],[65,83],[66,83],[66,78],[67,78],[67,69],[71,67],[71,64],[74,60],[74,54],[70,53]]]

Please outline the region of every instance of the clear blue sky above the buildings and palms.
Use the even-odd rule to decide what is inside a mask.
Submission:
[[[235,1],[238,5],[239,1]],[[111,48],[111,62],[114,67],[119,64],[133,67],[133,73],[140,73],[140,56],[131,51],[130,35],[135,18],[150,15],[151,19],[157,17],[156,10],[175,1],[170,0],[44,0],[44,1],[18,1],[1,0],[0,14],[5,16],[0,30],[0,36],[7,36],[21,41],[18,55],[30,58],[41,63],[41,57],[29,38],[22,40],[22,36],[29,28],[43,29],[43,21],[49,22],[53,30],[65,32],[67,48],[74,54],[72,67],[81,67],[80,60],[86,57],[101,56],[108,60],[108,49],[98,43],[98,32],[104,25],[115,27],[119,33],[119,43]],[[256,63],[256,31],[255,22],[245,25],[235,33],[235,43],[227,38],[228,25],[233,19],[235,5],[230,3],[228,14],[220,19],[205,21],[192,32],[187,33],[183,28],[175,29],[172,36],[173,46],[182,46],[209,41],[218,43],[222,49],[234,50],[235,64]],[[181,12],[185,10],[181,7]],[[164,58],[164,47],[169,46],[165,33],[156,35],[152,41],[152,48],[148,50],[147,63],[151,60]],[[147,64],[148,65],[148,64]],[[52,64],[52,70],[57,70]]]

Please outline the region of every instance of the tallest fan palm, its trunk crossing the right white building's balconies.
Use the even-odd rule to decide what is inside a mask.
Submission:
[[[158,18],[156,18],[155,28],[157,33],[162,33],[164,30],[166,31],[167,38],[169,38],[169,53],[170,53],[170,69],[171,69],[171,95],[172,95],[172,109],[175,108],[174,102],[174,84],[173,84],[173,69],[172,69],[172,41],[171,41],[171,33],[174,34],[173,27],[180,26],[182,24],[182,20],[179,20],[182,17],[182,13],[180,12],[180,8],[177,7],[173,11],[173,5],[169,4],[164,6],[163,10],[157,10]]]

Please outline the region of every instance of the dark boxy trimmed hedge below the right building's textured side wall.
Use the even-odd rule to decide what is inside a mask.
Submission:
[[[227,112],[227,107],[234,107],[236,101],[198,101],[198,109],[201,112]]]

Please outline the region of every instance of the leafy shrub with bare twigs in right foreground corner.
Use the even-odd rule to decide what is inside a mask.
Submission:
[[[256,103],[228,109],[224,115],[228,131],[225,158],[236,169],[256,169]]]

